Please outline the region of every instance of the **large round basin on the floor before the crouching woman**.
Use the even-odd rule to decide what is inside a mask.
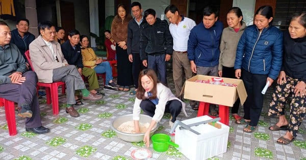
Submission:
[[[151,123],[152,117],[148,116],[148,115],[144,115],[144,114],[140,114],[140,119],[139,122],[140,123]],[[129,134],[129,133],[124,133],[121,132],[119,130],[117,130],[117,128],[124,122],[127,121],[133,121],[133,114],[126,114],[126,115],[122,115],[119,117],[116,117],[115,119],[112,120],[111,122],[111,127],[112,130],[114,130],[117,134],[117,137],[120,138],[123,141],[126,142],[141,142],[143,141],[143,137],[144,137],[144,133],[141,134]],[[152,131],[150,132],[150,136],[152,136],[155,131],[158,129],[159,124],[157,123]]]

